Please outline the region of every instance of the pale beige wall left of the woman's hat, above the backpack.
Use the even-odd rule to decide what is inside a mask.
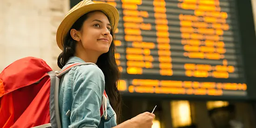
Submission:
[[[26,56],[58,69],[55,33],[68,9],[69,0],[0,0],[0,71]]]

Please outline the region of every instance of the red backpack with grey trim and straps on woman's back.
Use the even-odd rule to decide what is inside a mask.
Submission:
[[[55,74],[45,61],[26,57],[0,73],[0,128],[61,128],[59,83],[73,63]],[[107,118],[107,94],[102,96],[101,116]],[[103,113],[104,111],[104,113]]]

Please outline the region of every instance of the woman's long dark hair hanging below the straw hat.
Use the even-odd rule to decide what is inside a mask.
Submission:
[[[88,13],[81,16],[74,25],[70,28],[81,30],[83,22],[88,19]],[[76,40],[74,40],[70,35],[70,30],[65,37],[63,44],[63,51],[58,57],[58,66],[63,68],[68,59],[75,54]],[[114,44],[114,33],[111,30],[110,34],[113,36],[113,40],[109,47],[109,50],[105,54],[101,54],[96,62],[96,65],[102,70],[105,76],[105,91],[108,94],[110,105],[115,110],[117,115],[117,123],[121,116],[121,94],[117,89],[117,84],[120,77],[120,71],[115,62],[115,44]]]

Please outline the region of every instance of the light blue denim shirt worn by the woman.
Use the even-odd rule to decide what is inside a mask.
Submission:
[[[71,57],[71,63],[84,63]],[[65,68],[63,67],[62,70]],[[104,74],[96,65],[71,68],[60,80],[59,108],[62,128],[112,128],[116,126],[115,111],[107,102],[107,119],[100,115],[102,95],[105,89]],[[108,98],[107,98],[108,99]],[[67,111],[71,111],[67,116]]]

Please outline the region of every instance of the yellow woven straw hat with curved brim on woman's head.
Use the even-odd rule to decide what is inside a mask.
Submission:
[[[113,27],[113,31],[115,32],[119,21],[119,13],[114,6],[107,3],[94,3],[92,0],[82,0],[80,3],[69,10],[64,20],[62,20],[60,26],[58,27],[56,33],[56,41],[61,50],[63,50],[64,38],[67,35],[69,29],[73,26],[74,22],[78,20],[82,15],[91,11],[101,11],[105,13]]]

